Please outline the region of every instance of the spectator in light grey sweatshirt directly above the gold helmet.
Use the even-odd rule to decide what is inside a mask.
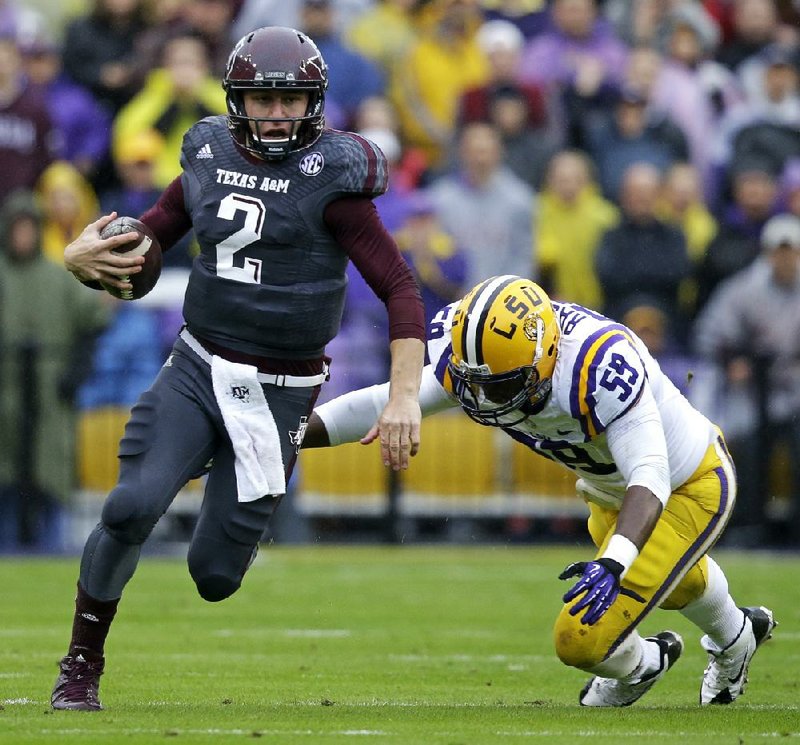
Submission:
[[[497,130],[476,122],[462,130],[455,172],[434,181],[429,193],[442,227],[467,255],[471,286],[493,274],[536,268],[533,191],[503,165]]]

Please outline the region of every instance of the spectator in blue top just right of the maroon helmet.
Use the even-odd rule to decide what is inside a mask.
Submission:
[[[352,128],[359,104],[369,96],[382,95],[386,80],[377,65],[341,40],[334,23],[333,5],[331,0],[302,0],[299,29],[317,42],[328,64],[326,107],[334,102],[343,117],[333,126]]]

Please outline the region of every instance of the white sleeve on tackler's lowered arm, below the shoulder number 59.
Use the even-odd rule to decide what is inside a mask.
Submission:
[[[649,385],[636,405],[608,425],[608,447],[627,486],[643,486],[666,505],[672,493],[667,440]]]

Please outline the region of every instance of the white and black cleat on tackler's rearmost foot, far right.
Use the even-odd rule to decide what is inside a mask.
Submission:
[[[739,636],[725,649],[720,649],[708,636],[700,640],[708,652],[708,667],[700,687],[700,703],[731,704],[747,686],[750,661],[756,650],[772,636],[778,625],[769,608],[742,608],[744,626]]]

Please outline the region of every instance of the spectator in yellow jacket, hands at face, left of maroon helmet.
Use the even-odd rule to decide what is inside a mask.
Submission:
[[[225,91],[209,70],[208,50],[194,35],[175,36],[163,49],[162,66],[114,121],[113,147],[145,129],[164,138],[155,181],[166,187],[181,173],[183,135],[196,121],[225,111]]]

